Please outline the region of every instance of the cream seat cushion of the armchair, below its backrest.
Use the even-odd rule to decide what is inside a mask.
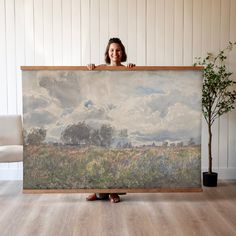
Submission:
[[[0,162],[23,161],[23,146],[8,145],[0,146]]]

